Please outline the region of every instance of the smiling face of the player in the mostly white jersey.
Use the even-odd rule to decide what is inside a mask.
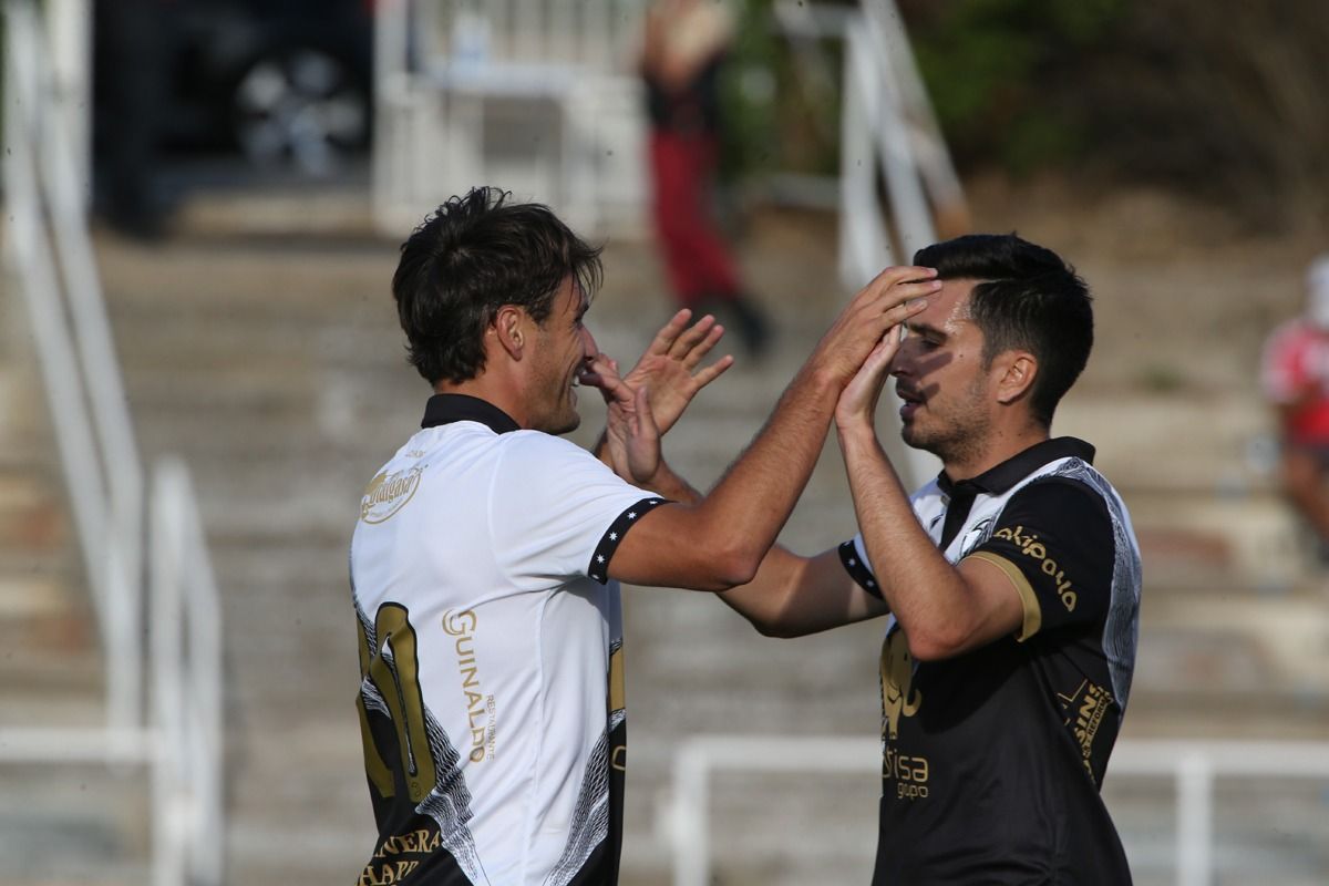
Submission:
[[[532,421],[536,430],[565,434],[581,424],[577,383],[590,360],[599,353],[595,339],[582,323],[587,307],[586,296],[567,278],[544,325],[536,329],[533,371],[537,389]]]

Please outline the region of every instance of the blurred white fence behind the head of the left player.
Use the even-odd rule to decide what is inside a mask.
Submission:
[[[373,207],[400,235],[501,185],[575,227],[633,223],[645,129],[643,0],[388,0],[375,33]],[[504,137],[506,134],[506,137]]]

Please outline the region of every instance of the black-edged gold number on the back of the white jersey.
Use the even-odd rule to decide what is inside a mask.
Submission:
[[[400,757],[411,802],[419,804],[437,784],[437,768],[424,725],[416,632],[411,627],[409,612],[399,603],[384,603],[379,607],[373,619],[373,632],[379,646],[371,655],[369,638],[364,635],[364,626],[360,626],[360,676],[373,681],[388,705],[388,715],[396,728],[396,748],[380,747],[373,740],[369,712],[364,707],[361,692],[356,699],[356,707],[360,709],[364,769],[379,794],[387,798],[396,793],[392,768],[387,760],[393,756]]]

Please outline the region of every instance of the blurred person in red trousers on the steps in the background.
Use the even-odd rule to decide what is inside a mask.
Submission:
[[[744,291],[715,217],[720,149],[720,72],[734,17],[718,0],[654,0],[646,12],[641,74],[650,120],[657,238],[682,307],[732,320],[752,355],[769,323]]]

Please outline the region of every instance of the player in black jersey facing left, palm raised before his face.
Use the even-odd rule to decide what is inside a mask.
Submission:
[[[876,886],[1130,883],[1099,786],[1135,667],[1139,547],[1094,448],[1050,436],[1092,345],[1088,290],[1014,235],[914,263],[941,291],[835,406],[857,537],[775,547],[720,598],[772,636],[889,618]],[[913,495],[876,436],[888,375],[904,441],[942,462]]]

